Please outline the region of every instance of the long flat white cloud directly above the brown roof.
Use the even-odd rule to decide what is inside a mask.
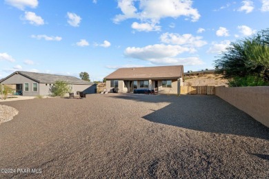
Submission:
[[[155,64],[181,64],[181,65],[199,65],[203,62],[197,57],[178,58],[183,52],[191,52],[190,48],[184,48],[180,45],[155,44],[144,48],[126,48],[124,54],[126,57],[150,61]]]

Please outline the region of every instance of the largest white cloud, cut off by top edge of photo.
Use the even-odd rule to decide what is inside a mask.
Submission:
[[[139,3],[137,7],[135,3]],[[117,14],[113,21],[119,23],[126,19],[140,19],[159,23],[159,20],[166,17],[177,18],[181,16],[190,17],[192,21],[198,21],[200,14],[197,9],[192,8],[192,1],[166,0],[160,3],[159,0],[118,0],[118,8],[122,14]]]

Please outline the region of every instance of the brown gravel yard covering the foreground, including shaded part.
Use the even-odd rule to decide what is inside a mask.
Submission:
[[[269,128],[217,96],[92,94],[2,105],[19,114],[0,125],[0,178],[269,176]]]

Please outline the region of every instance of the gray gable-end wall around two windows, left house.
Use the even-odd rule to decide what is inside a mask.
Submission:
[[[28,92],[25,91],[26,83],[29,84],[29,90]],[[1,84],[3,85],[14,85],[14,84],[22,84],[23,85],[23,96],[37,96],[39,95],[39,83],[37,83],[37,92],[33,92],[32,84],[37,83],[36,81],[32,81],[29,78],[26,78],[25,76],[22,76],[21,74],[14,74],[10,76],[10,78],[7,78],[5,81],[2,81]]]

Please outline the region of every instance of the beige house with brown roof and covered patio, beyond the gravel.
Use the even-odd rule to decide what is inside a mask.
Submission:
[[[179,94],[183,85],[183,65],[119,68],[104,79],[110,92],[119,88],[121,93],[153,89],[160,94]]]

